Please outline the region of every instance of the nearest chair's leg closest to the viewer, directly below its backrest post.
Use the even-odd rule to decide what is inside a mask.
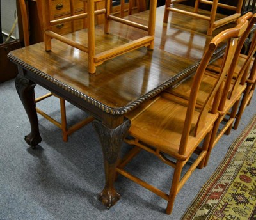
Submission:
[[[172,180],[172,187],[170,189],[169,194],[169,201],[167,203],[166,207],[166,214],[170,215],[172,213],[173,203],[175,200],[175,196],[177,195],[179,183],[180,183],[180,176],[182,172],[182,168],[184,166],[184,161],[177,161],[174,174],[173,174],[173,180]]]

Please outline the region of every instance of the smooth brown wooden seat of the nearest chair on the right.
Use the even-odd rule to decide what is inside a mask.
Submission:
[[[198,132],[195,138],[193,133],[200,114],[199,111],[195,111],[191,125],[191,136],[188,140],[191,144],[188,146],[186,153],[181,156],[179,155],[179,148],[187,109],[186,106],[173,102],[164,97],[163,94],[154,103],[150,104],[142,114],[137,116],[127,114],[127,118],[132,121],[129,134],[142,142],[148,143],[148,145],[154,146],[161,152],[185,160],[195,151],[195,148],[204,138],[205,132],[212,129],[213,123],[218,118],[218,114],[209,113],[204,129],[200,130],[202,134]],[[141,109],[137,109],[137,112],[141,112]]]

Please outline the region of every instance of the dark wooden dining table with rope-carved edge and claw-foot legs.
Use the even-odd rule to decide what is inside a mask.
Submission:
[[[171,12],[164,24],[163,14],[164,6],[157,8],[154,49],[141,47],[116,56],[97,66],[95,74],[88,73],[86,52],[56,39],[52,39],[51,51],[45,51],[44,42],[40,42],[8,54],[19,70],[15,86],[31,125],[25,136],[29,146],[35,148],[42,141],[34,94],[37,84],[95,118],[92,123],[102,147],[105,172],[99,200],[108,208],[120,199],[114,184],[122,142],[131,126],[125,114],[194,74],[212,36],[227,28],[216,29],[212,36],[207,36],[207,21]],[[126,19],[145,25],[148,11]],[[109,26],[108,34],[104,33],[104,26],[95,27],[95,51],[147,35],[147,31],[115,21]],[[86,45],[87,34],[86,29],[81,29],[65,36]],[[225,45],[221,45],[212,61],[224,49]],[[86,141],[86,135],[81,141]]]

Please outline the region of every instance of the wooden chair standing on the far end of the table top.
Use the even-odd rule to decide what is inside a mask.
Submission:
[[[197,19],[204,19],[209,22],[209,28],[207,29],[207,35],[212,35],[212,31],[214,31],[214,29],[219,28],[225,24],[228,24],[228,23],[238,19],[241,16],[241,8],[242,8],[242,4],[243,4],[243,0],[238,0],[237,6],[230,6],[228,4],[222,4],[222,3],[219,3],[219,0],[213,0],[213,1],[196,0],[195,6],[193,8],[193,12],[189,12],[186,10],[182,10],[182,9],[173,7],[173,4],[180,3],[182,1],[186,1],[186,0],[166,0],[165,10],[164,10],[164,23],[168,22],[169,12],[178,12],[178,13],[182,13],[185,15],[191,15]],[[204,15],[202,13],[198,13],[200,3],[211,5],[210,15]],[[233,13],[232,15],[223,17],[222,19],[217,20],[216,13],[217,13],[218,7],[225,8],[226,10],[232,10],[235,13]]]

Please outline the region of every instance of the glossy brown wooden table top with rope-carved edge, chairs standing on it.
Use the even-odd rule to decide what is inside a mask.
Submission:
[[[191,74],[211,38],[205,34],[204,20],[173,13],[164,25],[163,10],[164,7],[157,8],[153,51],[143,47],[122,54],[98,66],[96,74],[88,74],[88,54],[54,39],[50,52],[45,51],[42,42],[12,51],[8,57],[29,70],[28,78],[36,79],[38,84],[57,86],[107,113],[124,114],[141,100]],[[146,24],[147,15],[147,11],[136,13],[129,20]],[[102,52],[143,35],[147,32],[113,21],[109,34],[97,26],[95,49]],[[67,36],[86,44],[86,30]]]

